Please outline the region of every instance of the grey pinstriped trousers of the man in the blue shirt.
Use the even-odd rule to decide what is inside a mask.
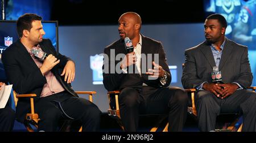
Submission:
[[[241,89],[221,99],[206,90],[199,90],[195,96],[200,131],[213,131],[216,118],[221,113],[241,113],[242,131],[256,131],[256,93]]]

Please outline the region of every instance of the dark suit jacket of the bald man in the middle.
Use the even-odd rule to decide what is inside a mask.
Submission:
[[[111,55],[112,58],[110,58],[110,50],[113,49],[115,51],[115,54]],[[127,54],[126,47],[123,40],[117,40],[113,44],[107,46],[104,49],[104,53],[108,55],[108,59],[104,58],[104,66],[103,69],[109,69],[109,73],[103,73],[103,83],[105,88],[108,91],[112,90],[122,90],[126,87],[132,87],[132,88],[142,88],[142,83],[146,83],[148,86],[159,88],[162,84],[160,83],[159,79],[156,80],[148,80],[148,75],[145,73],[142,73],[142,76],[139,75],[139,73],[110,73],[110,66],[113,64],[114,66],[117,65],[120,60],[114,60],[115,56],[117,54]],[[167,83],[164,86],[168,86],[171,83],[171,73],[168,68],[166,54],[164,53],[163,46],[160,42],[152,40],[151,38],[142,36],[142,49],[141,54],[153,54],[152,60],[154,60],[154,54],[159,54],[159,65],[163,67],[165,71],[167,71]],[[151,61],[152,63],[152,61]],[[109,66],[107,66],[109,65]],[[144,65],[143,65],[144,66]],[[147,66],[146,66],[147,67]],[[154,67],[152,65],[152,67]],[[115,68],[115,67],[112,67]],[[129,68],[129,67],[128,67]],[[135,67],[135,69],[137,69]],[[148,68],[146,68],[148,69]]]

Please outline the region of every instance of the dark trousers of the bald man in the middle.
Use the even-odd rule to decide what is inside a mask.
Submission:
[[[125,131],[137,131],[139,114],[168,114],[168,131],[182,131],[187,118],[188,97],[180,88],[151,90],[125,88],[119,95],[119,108]]]

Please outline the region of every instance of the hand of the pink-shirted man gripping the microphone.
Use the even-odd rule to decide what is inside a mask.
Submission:
[[[43,65],[40,67],[40,71],[43,75],[45,75],[48,71],[52,70],[56,64],[58,64],[60,60],[57,60],[57,58],[54,57],[54,55],[50,54],[48,57],[44,60]]]

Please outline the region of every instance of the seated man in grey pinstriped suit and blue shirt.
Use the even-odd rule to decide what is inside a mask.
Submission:
[[[185,50],[182,76],[184,88],[196,88],[195,104],[201,131],[213,131],[220,113],[243,114],[242,131],[256,131],[256,94],[251,85],[248,50],[225,38],[226,20],[220,14],[208,16],[204,23],[206,41]],[[213,67],[222,73],[222,84],[211,79]]]

